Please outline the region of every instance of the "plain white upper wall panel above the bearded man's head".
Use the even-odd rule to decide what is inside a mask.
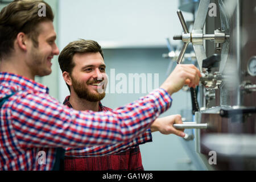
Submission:
[[[104,48],[166,46],[165,38],[181,31],[177,5],[177,0],[61,0],[60,45],[84,38]]]

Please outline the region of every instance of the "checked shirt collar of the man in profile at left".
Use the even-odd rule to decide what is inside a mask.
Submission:
[[[0,72],[0,84],[10,85],[10,88],[14,91],[33,90],[35,92],[49,93],[47,86],[14,73]]]

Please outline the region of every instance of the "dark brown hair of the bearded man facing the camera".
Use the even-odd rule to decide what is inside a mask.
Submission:
[[[73,56],[75,53],[88,53],[88,52],[100,52],[102,58],[104,59],[103,51],[100,44],[94,40],[76,40],[68,44],[59,55],[59,64],[62,72],[72,73],[75,63],[73,62]],[[67,84],[70,91],[70,87]]]

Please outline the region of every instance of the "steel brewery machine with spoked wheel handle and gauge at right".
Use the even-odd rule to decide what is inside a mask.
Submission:
[[[182,11],[195,15],[191,31]],[[185,150],[199,170],[255,170],[256,1],[183,0],[177,17],[177,64],[192,45],[202,75],[191,115],[181,113],[184,124],[175,126],[187,133]]]

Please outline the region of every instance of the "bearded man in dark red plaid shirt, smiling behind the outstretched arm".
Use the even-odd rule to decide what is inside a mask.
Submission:
[[[64,105],[76,110],[111,111],[101,104],[105,97],[106,65],[101,46],[93,40],[71,42],[61,51],[59,64],[63,78],[70,91]],[[168,121],[168,122],[166,122]],[[65,170],[143,170],[139,144],[152,141],[151,132],[172,127],[171,123],[181,123],[180,115],[156,119],[144,134],[131,142],[84,148],[67,148]],[[161,125],[159,125],[159,123]],[[182,132],[172,128],[172,133],[182,136]],[[99,156],[99,155],[104,156]]]

